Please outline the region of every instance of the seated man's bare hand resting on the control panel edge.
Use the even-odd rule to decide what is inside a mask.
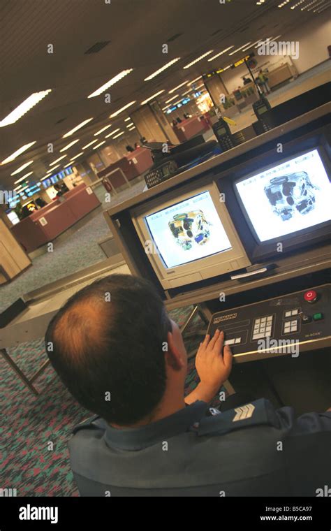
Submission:
[[[216,330],[210,339],[206,335],[196,354],[196,371],[200,384],[185,398],[186,404],[196,400],[210,402],[221,385],[228,379],[232,367],[232,352],[228,345],[223,349],[224,333]]]

